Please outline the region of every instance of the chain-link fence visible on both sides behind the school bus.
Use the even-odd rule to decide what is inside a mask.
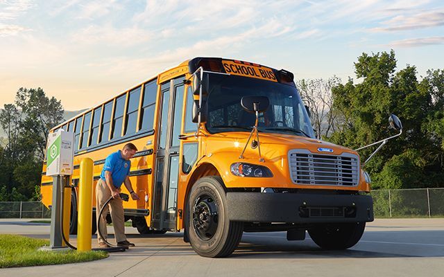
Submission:
[[[444,217],[444,188],[373,190],[373,211],[384,217]],[[51,218],[41,202],[0,202],[0,218]]]

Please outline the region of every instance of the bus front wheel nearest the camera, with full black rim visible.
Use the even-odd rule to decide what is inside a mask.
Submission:
[[[200,256],[229,256],[239,244],[244,225],[230,222],[226,205],[221,177],[203,177],[191,188],[187,233]]]

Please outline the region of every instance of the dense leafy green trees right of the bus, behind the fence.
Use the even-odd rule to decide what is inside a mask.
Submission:
[[[443,71],[429,71],[419,82],[415,66],[395,69],[393,50],[358,58],[355,73],[362,82],[355,84],[350,78],[332,89],[333,108],[344,115],[345,127],[330,140],[354,149],[379,141],[395,133],[387,118],[396,114],[404,127],[402,136],[387,143],[366,165],[373,187],[442,186]],[[361,150],[361,159],[375,148]]]

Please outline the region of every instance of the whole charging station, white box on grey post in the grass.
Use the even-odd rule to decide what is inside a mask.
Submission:
[[[67,179],[72,175],[74,170],[74,132],[65,132],[59,129],[58,132],[50,133],[48,136],[48,143],[46,148],[46,176],[53,177],[53,201],[51,206],[51,235],[50,244],[47,249],[67,249],[63,240],[61,226],[62,218],[62,190],[65,190]],[[69,190],[71,190],[69,188]],[[70,195],[70,194],[69,194]],[[67,198],[67,197],[65,197]],[[69,202],[71,201],[69,197]],[[69,207],[68,202],[68,207]],[[65,206],[65,210],[69,208]],[[69,213],[68,213],[69,215]],[[69,226],[69,216],[64,217],[67,222],[65,225]],[[68,230],[69,228],[65,228]],[[69,236],[68,236],[69,238]]]

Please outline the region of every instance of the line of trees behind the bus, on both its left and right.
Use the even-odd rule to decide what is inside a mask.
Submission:
[[[333,76],[296,85],[325,141],[357,149],[395,134],[388,127],[391,113],[402,120],[402,136],[364,168],[373,188],[444,187],[444,70],[418,76],[413,65],[396,69],[393,50],[363,53],[355,62],[359,82],[349,78],[343,84]],[[15,102],[1,110],[6,137],[0,140],[0,201],[39,199],[46,139],[63,112],[60,100],[41,88],[19,89]],[[375,148],[360,151],[361,160]]]

